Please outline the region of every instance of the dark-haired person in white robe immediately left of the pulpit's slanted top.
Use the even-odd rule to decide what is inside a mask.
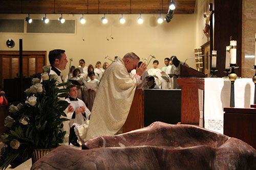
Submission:
[[[187,63],[184,63],[178,60],[176,56],[173,56],[172,63],[173,65],[170,67],[170,74],[175,75],[173,76],[173,88],[180,89],[181,87],[177,83],[177,78],[180,75],[180,64],[185,65],[186,67],[189,67],[189,66]]]

